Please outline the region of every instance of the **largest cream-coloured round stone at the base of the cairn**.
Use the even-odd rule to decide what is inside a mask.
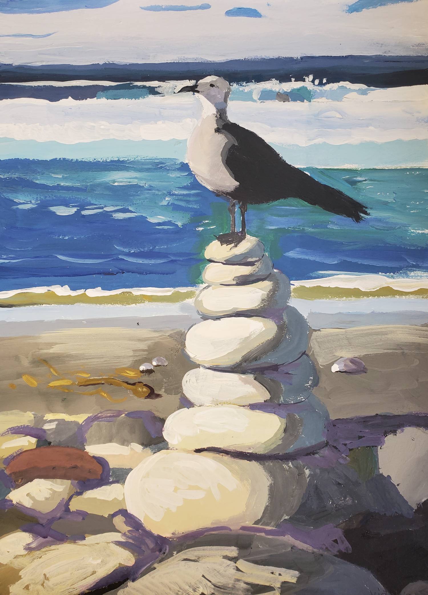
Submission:
[[[125,500],[146,528],[167,537],[251,525],[263,514],[269,486],[270,477],[257,462],[162,450],[130,472]]]

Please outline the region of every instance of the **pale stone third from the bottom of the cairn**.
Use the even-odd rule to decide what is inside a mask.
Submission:
[[[270,394],[252,374],[234,374],[209,368],[195,368],[183,377],[183,393],[195,405],[250,405]]]

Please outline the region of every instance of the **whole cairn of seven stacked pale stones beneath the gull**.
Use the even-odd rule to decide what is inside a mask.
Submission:
[[[127,477],[127,510],[165,537],[214,527],[275,527],[298,509],[308,470],[286,453],[325,440],[327,411],[311,394],[308,323],[288,304],[290,281],[263,243],[205,250],[201,322],[185,350],[186,408],[170,415],[167,450]],[[283,459],[283,460],[282,460]]]

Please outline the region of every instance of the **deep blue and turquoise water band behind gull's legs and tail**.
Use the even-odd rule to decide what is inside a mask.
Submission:
[[[260,237],[291,279],[428,273],[428,170],[315,170],[371,212],[361,224],[297,199],[252,206]],[[227,230],[226,203],[174,159],[0,161],[0,290],[68,285],[183,287]]]

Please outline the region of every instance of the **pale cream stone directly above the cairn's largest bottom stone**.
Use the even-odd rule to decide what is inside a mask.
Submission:
[[[179,409],[164,425],[172,449],[218,447],[239,452],[267,453],[283,439],[285,419],[239,405]]]

